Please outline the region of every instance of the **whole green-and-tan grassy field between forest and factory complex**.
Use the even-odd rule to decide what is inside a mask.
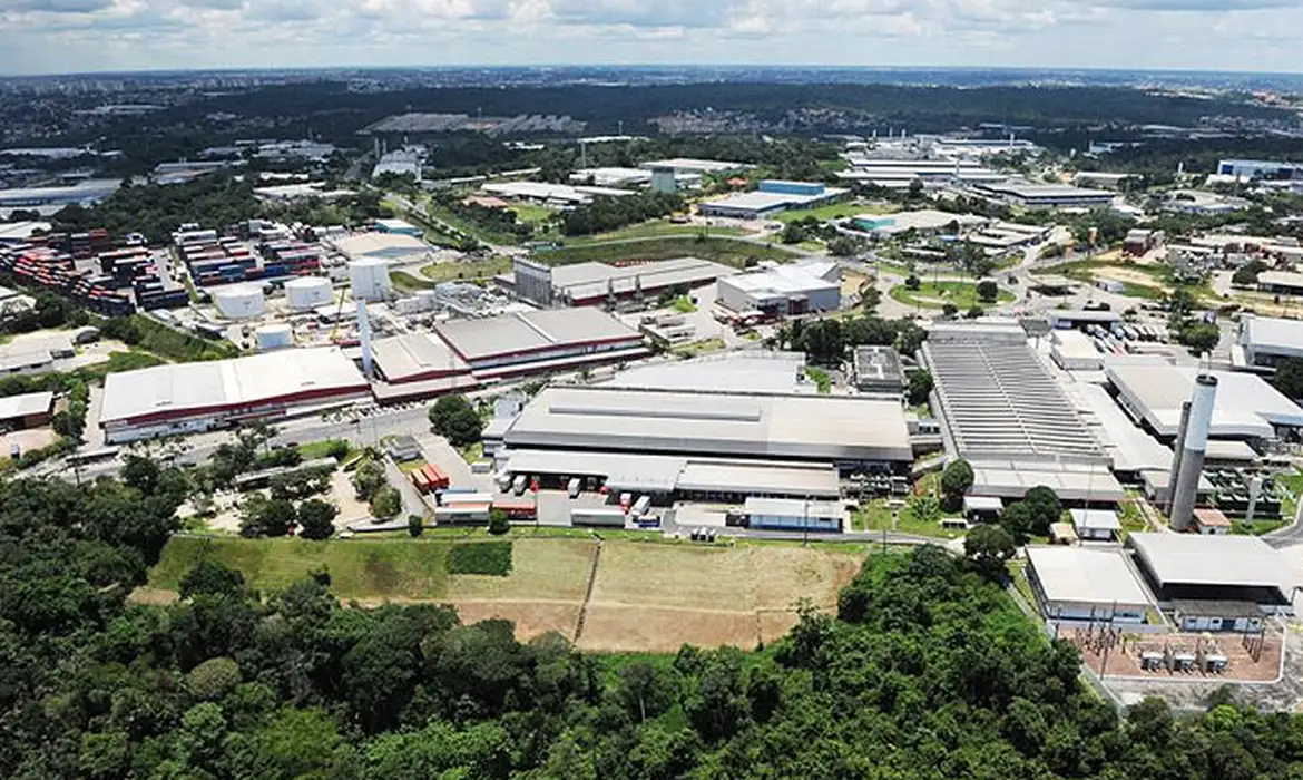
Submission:
[[[335,593],[364,607],[446,603],[466,622],[511,620],[523,638],[550,630],[573,638],[597,560],[581,647],[670,652],[687,642],[751,648],[786,633],[801,599],[830,609],[864,560],[863,549],[833,545],[706,547],[602,536],[606,541],[597,557],[595,539],[533,537],[529,530],[517,528],[508,536],[512,561],[504,577],[448,574],[450,550],[459,541],[440,533],[328,543],[173,537],[137,597],[172,597],[181,577],[201,557],[212,556],[241,570],[262,591],[326,567]],[[472,531],[468,537],[485,535]]]

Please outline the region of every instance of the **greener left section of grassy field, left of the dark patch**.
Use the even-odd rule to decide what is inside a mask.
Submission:
[[[175,536],[163,548],[149,584],[177,590],[203,556],[238,569],[254,588],[270,591],[326,567],[340,599],[438,599],[447,591],[448,545],[423,540],[194,539]]]

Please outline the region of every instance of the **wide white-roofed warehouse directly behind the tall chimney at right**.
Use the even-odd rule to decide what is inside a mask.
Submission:
[[[1118,390],[1118,403],[1160,438],[1174,440],[1181,407],[1195,389],[1194,367],[1110,365],[1105,374]],[[1212,438],[1272,440],[1278,428],[1303,428],[1303,410],[1250,373],[1208,372],[1217,378]]]

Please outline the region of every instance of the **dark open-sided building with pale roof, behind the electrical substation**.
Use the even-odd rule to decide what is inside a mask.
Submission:
[[[1160,603],[1240,603],[1293,613],[1295,577],[1257,536],[1131,533],[1127,547]]]

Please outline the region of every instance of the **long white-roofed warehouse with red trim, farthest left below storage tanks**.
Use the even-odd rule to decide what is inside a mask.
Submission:
[[[211,430],[351,402],[370,393],[336,347],[108,374],[99,425],[111,443]]]

